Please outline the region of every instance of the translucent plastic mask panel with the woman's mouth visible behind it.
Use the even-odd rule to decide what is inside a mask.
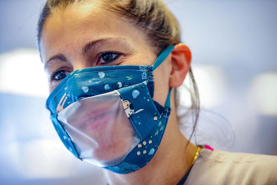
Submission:
[[[119,164],[139,143],[115,91],[80,99],[58,113],[79,158],[100,167]]]

